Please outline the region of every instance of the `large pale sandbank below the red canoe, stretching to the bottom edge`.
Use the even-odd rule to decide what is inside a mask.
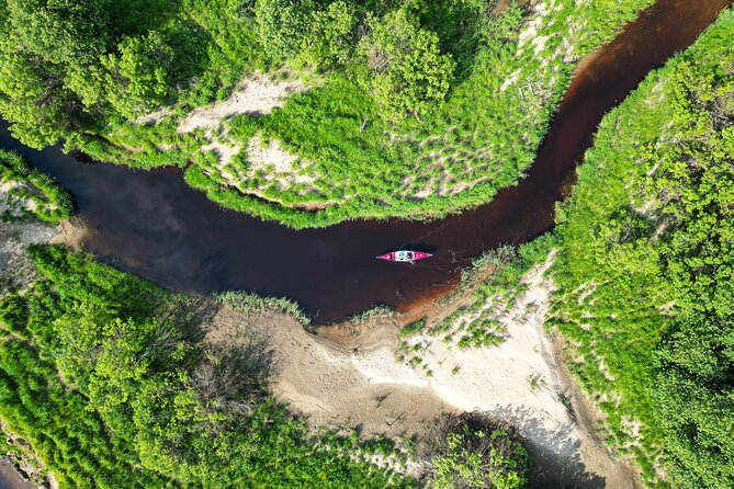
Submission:
[[[365,434],[420,441],[440,412],[482,411],[527,439],[541,464],[533,478],[545,487],[634,487],[625,466],[591,434],[592,423],[577,420],[571,382],[543,328],[552,292],[543,276],[549,265],[526,276],[528,287],[510,311],[515,319],[507,325],[506,342],[459,349],[419,337],[421,365],[396,360],[405,316],[312,333],[282,314],[245,318],[224,306],[215,325],[228,316],[229,323],[269,336],[276,359],[273,391],[314,425],[347,423]]]

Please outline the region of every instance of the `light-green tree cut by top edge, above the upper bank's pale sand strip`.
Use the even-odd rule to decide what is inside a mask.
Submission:
[[[255,20],[266,55],[274,60],[294,58],[309,31],[313,12],[310,0],[258,0]]]

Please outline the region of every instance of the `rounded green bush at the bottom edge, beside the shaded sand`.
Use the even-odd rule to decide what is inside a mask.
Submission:
[[[436,489],[526,487],[528,452],[507,429],[478,414],[444,414],[429,441]]]

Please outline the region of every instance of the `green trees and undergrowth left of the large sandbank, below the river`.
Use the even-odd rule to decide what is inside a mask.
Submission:
[[[261,342],[203,343],[216,304],[32,252],[41,280],[0,305],[0,418],[61,487],[411,485],[366,462],[387,441],[313,434],[278,405]]]

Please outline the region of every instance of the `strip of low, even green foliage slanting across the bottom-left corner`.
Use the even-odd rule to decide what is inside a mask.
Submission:
[[[137,467],[129,441],[114,436],[68,389],[52,363],[25,342],[0,343],[0,418],[31,444],[60,487],[163,487]]]

